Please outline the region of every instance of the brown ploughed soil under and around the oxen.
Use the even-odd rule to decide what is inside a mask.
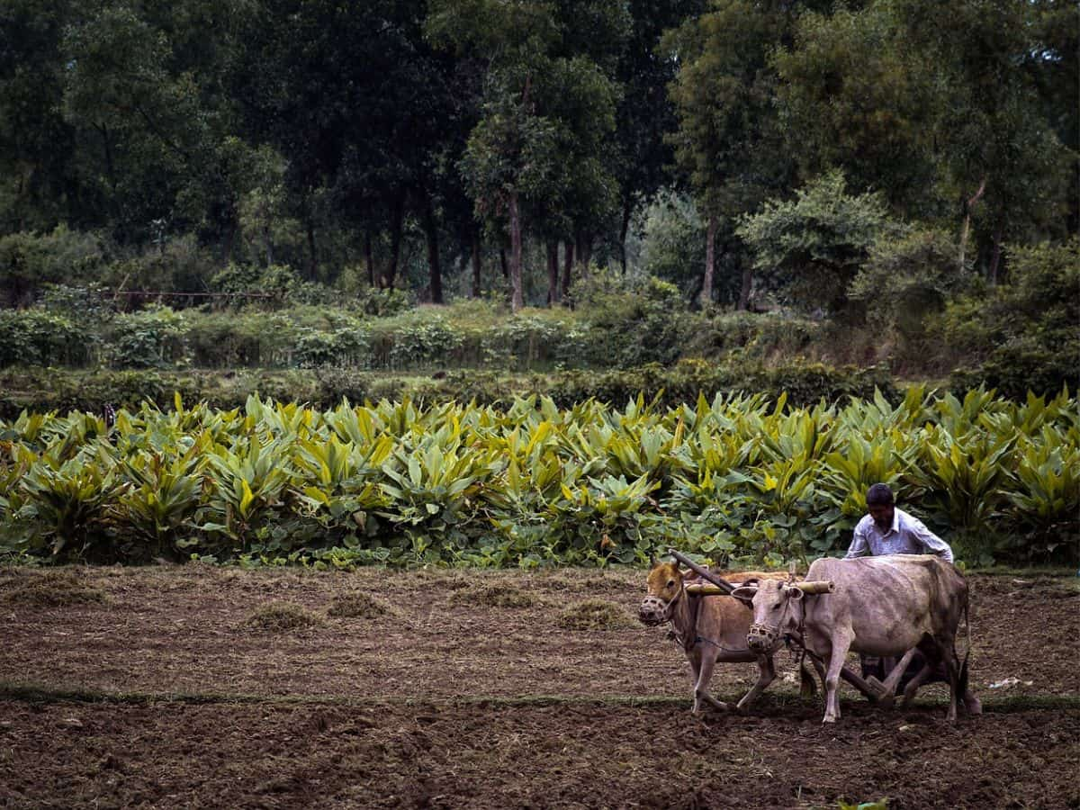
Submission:
[[[0,568],[0,808],[1080,807],[1075,578],[970,578],[955,726],[941,685],[823,726],[787,651],[696,717],[644,579]]]

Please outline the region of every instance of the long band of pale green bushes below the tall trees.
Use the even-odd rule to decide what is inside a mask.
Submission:
[[[79,310],[94,307],[93,318]],[[369,370],[620,368],[685,356],[792,356],[821,333],[783,315],[691,313],[671,285],[648,280],[633,295],[595,295],[576,311],[490,303],[420,307],[369,316],[356,309],[295,306],[239,312],[148,306],[116,311],[70,288],[50,307],[0,311],[0,366],[111,368],[315,368]]]

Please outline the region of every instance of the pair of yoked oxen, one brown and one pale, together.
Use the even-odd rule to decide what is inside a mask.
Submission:
[[[905,706],[920,685],[944,671],[949,721],[956,720],[958,702],[971,714],[981,712],[968,689],[967,656],[961,663],[956,651],[961,616],[967,621],[968,584],[950,563],[914,554],[816,559],[806,582],[832,583],[825,593],[808,593],[812,589],[777,573],[745,572],[728,576],[738,585],[730,596],[701,596],[688,592],[691,577],[676,563],[653,562],[638,618],[648,625],[672,624],[692,670],[696,713],[705,703],[729,708],[708,693],[717,662],[757,663],[757,683],[737,704],[740,711],[750,706],[777,677],[773,654],[792,637],[801,639],[808,653],[800,667],[804,694],[815,691],[807,659],[822,680],[824,723],[840,717],[837,686],[849,650],[899,659],[880,685],[879,703],[892,703],[918,650],[924,663],[904,687]],[[968,635],[970,652],[970,625]]]

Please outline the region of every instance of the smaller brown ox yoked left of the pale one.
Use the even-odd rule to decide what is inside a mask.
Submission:
[[[781,573],[744,572],[727,575],[734,583],[758,581]],[[772,651],[758,653],[746,647],[746,634],[753,613],[743,603],[730,596],[691,596],[686,591],[690,572],[679,570],[675,563],[653,563],[648,577],[648,595],[638,608],[643,624],[656,626],[671,622],[679,646],[690,662],[693,680],[693,712],[701,711],[702,702],[721,711],[730,706],[708,693],[708,681],[718,661],[758,665],[757,683],[737,708],[751,705],[777,677]],[[809,673],[804,673],[804,689],[814,690]]]

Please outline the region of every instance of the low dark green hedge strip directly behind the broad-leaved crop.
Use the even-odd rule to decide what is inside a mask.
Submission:
[[[590,399],[621,403],[643,394],[664,407],[696,402],[699,394],[761,393],[770,401],[809,405],[820,400],[867,399],[876,390],[896,399],[897,388],[883,366],[831,368],[820,363],[768,367],[741,361],[712,365],[684,361],[671,368],[650,364],[610,372],[567,370],[507,375],[458,370],[428,376],[388,376],[355,368],[312,368],[274,372],[102,370],[8,368],[0,370],[0,417],[16,418],[23,410],[84,410],[100,414],[106,406],[138,408],[143,403],[168,408],[174,393],[184,402],[204,402],[216,408],[243,407],[252,394],[276,401],[298,401],[333,407],[353,403],[409,397],[420,402],[476,402],[503,405],[515,396],[550,396],[559,407]]]

